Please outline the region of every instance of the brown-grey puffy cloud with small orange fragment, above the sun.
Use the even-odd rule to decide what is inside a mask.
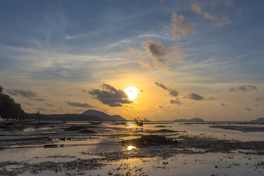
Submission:
[[[164,44],[161,44],[159,41],[151,39],[141,44],[146,49],[148,55],[154,60],[154,64],[157,68],[166,66],[169,59],[179,60],[182,58],[179,54],[181,50],[177,46],[165,47]],[[143,66],[150,67],[147,61],[142,62],[142,60],[139,60],[139,62]]]

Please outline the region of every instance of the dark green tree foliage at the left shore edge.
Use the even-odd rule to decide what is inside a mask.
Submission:
[[[2,118],[25,118],[26,113],[22,110],[21,105],[3,92],[3,87],[0,86],[0,115]]]

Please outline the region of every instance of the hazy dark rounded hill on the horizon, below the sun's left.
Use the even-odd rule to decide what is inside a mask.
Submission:
[[[97,116],[104,121],[108,120],[126,120],[121,115],[109,115],[105,112],[99,111],[99,110],[86,110],[82,113],[83,115],[91,115],[91,116]]]

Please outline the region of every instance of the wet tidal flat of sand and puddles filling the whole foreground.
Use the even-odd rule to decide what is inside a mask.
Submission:
[[[0,175],[264,175],[263,132],[249,131],[248,137],[254,135],[257,140],[242,140],[243,132],[212,124],[155,127],[161,125],[43,123],[17,126],[10,132],[1,129]],[[176,142],[141,140],[130,148],[122,143],[149,135]]]

